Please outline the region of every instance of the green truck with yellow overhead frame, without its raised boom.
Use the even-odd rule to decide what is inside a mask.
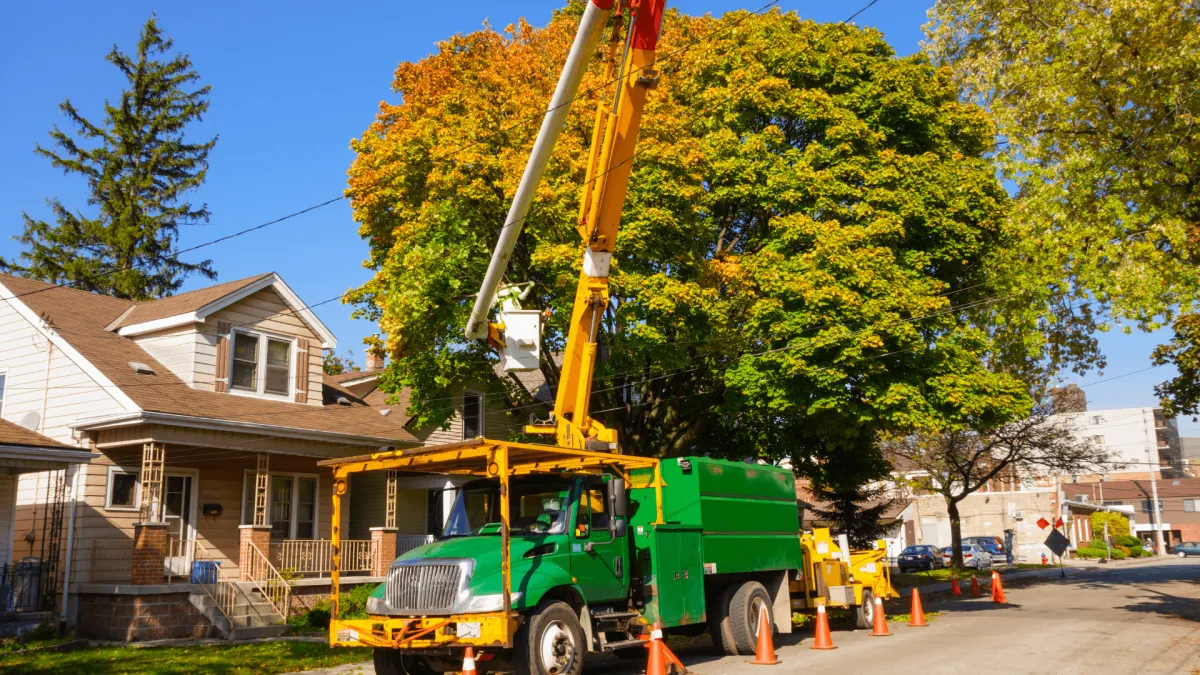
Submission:
[[[349,474],[478,477],[444,536],[392,562],[368,619],[334,607],[330,643],[374,647],[382,675],[457,671],[466,647],[486,671],[577,674],[588,653],[641,657],[655,627],[751,655],[763,607],[791,632],[804,565],[788,470],[484,438],[323,464],[335,551]]]

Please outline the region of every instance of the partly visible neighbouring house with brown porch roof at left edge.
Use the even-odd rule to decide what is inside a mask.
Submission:
[[[0,400],[6,384],[0,374]],[[70,524],[74,512],[62,508],[43,518],[46,530],[22,532],[16,540],[17,480],[26,473],[54,477],[44,489],[60,494],[78,467],[96,455],[0,419],[0,637],[17,634],[40,623],[54,623],[59,595],[59,568],[70,565],[74,539]],[[65,500],[47,500],[62,506]],[[66,540],[60,532],[66,525]],[[52,532],[56,527],[59,532]],[[64,574],[70,574],[64,572]]]

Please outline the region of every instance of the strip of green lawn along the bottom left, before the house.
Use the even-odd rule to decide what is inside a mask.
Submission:
[[[7,652],[0,673],[30,674],[278,674],[371,661],[367,649],[331,649],[320,643],[275,641],[186,647],[85,647],[70,652]]]

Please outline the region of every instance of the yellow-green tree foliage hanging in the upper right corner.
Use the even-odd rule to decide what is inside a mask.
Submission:
[[[930,17],[928,53],[992,114],[1018,190],[995,268],[1042,301],[1028,348],[1051,371],[1103,365],[1091,331],[1174,323],[1154,360],[1180,375],[1157,393],[1200,412],[1200,5],[938,0]]]

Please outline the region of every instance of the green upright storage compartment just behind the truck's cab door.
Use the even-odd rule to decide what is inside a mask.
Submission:
[[[642,573],[643,614],[664,628],[704,621],[704,565],[701,530],[646,525],[632,530]]]

